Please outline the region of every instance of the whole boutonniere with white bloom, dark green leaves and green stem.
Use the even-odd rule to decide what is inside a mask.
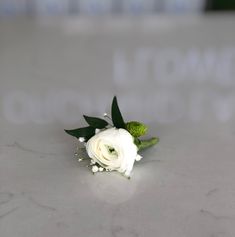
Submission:
[[[111,116],[105,113],[104,119],[86,115],[83,117],[87,127],[65,132],[85,146],[93,173],[118,171],[129,178],[134,162],[142,159],[138,152],[159,141],[157,137],[147,140],[140,138],[146,135],[147,126],[136,121],[125,122],[116,96],[113,98]]]

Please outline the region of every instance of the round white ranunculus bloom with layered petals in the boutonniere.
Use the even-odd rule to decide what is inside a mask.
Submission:
[[[132,135],[122,128],[109,128],[94,135],[88,140],[86,150],[106,170],[117,170],[126,176],[139,159]]]

